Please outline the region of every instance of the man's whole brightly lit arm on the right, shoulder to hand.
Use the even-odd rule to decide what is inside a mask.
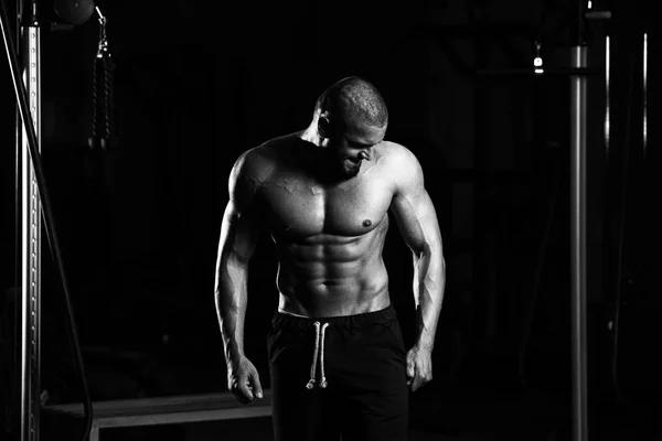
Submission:
[[[446,287],[446,263],[435,206],[425,190],[423,170],[408,150],[397,154],[392,212],[414,255],[416,341],[407,353],[412,390],[433,379],[431,352]]]

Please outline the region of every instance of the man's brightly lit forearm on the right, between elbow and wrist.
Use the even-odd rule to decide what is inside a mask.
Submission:
[[[416,345],[433,349],[446,288],[446,263],[440,250],[426,249],[414,256]]]

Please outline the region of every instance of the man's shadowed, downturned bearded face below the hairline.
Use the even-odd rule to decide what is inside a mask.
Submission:
[[[372,149],[384,140],[386,126],[343,121],[329,136],[329,153],[341,176],[351,179],[359,174],[363,160],[372,159]]]

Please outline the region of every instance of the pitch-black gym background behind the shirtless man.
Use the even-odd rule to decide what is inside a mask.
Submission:
[[[605,406],[611,412],[628,402],[631,411],[619,413],[628,416],[622,420],[645,415],[644,426],[659,435],[659,413],[651,410],[662,389],[662,366],[651,351],[661,311],[654,286],[659,86],[656,67],[649,64],[652,130],[644,155],[641,33],[649,32],[650,53],[659,39],[648,26],[648,3],[596,1],[596,9],[612,11],[612,20],[591,23],[586,33],[589,65],[599,71],[588,83],[588,369],[591,430],[617,420],[602,418]],[[546,69],[568,67],[576,2],[97,6],[108,19],[116,66],[116,137],[106,150],[87,143],[96,18],[72,30],[42,31],[42,161],[93,399],[226,388],[213,279],[229,169],[244,150],[305,128],[327,86],[360,75],[385,96],[387,139],[420,160],[444,235],[448,280],[435,379],[414,397],[413,409],[423,409],[414,421],[448,432],[469,427],[465,421],[476,420],[470,416],[480,409],[508,402],[516,404],[512,412],[545,409],[540,415],[553,418],[541,428],[560,427],[567,435],[570,83],[563,75],[477,72],[530,67],[534,41],[542,43]],[[608,149],[607,32],[612,41]],[[0,250],[14,265],[3,266],[0,281],[3,369],[11,373],[19,261],[14,103],[6,67],[0,72]],[[42,384],[50,402],[76,402],[81,387],[63,291],[45,241],[42,249]],[[384,254],[410,342],[410,252],[396,230]],[[266,386],[275,262],[265,236],[250,272],[246,349]],[[9,384],[6,396],[15,387]],[[12,412],[6,413],[11,421]]]

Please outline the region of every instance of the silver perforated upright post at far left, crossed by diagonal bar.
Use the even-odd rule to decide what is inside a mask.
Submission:
[[[22,31],[23,83],[41,152],[41,34],[36,26]],[[21,271],[21,440],[39,440],[41,341],[41,201],[28,133],[21,143],[22,271]]]

